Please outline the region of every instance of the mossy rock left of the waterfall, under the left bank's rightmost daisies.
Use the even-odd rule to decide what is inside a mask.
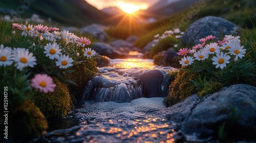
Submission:
[[[73,65],[70,69],[74,70],[74,72],[67,73],[66,80],[70,80],[76,85],[68,83],[69,92],[72,97],[78,99],[87,82],[92,79],[98,71],[96,61],[88,58],[86,62]]]

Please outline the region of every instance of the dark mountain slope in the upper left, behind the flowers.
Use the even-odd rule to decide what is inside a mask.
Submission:
[[[0,12],[16,13],[22,17],[37,14],[41,18],[51,18],[61,25],[82,27],[90,23],[110,24],[105,19],[111,17],[84,0],[36,0],[16,1],[1,0]]]

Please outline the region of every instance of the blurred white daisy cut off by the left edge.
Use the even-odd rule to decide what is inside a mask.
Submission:
[[[6,67],[7,65],[11,65],[12,63],[13,63],[13,55],[12,55],[11,49],[9,47],[4,47],[4,45],[1,44],[0,66],[4,65],[4,67]]]

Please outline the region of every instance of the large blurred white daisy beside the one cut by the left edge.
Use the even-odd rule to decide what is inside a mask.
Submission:
[[[14,61],[15,66],[17,69],[19,69],[20,71],[24,68],[24,67],[34,67],[34,65],[36,65],[36,58],[35,56],[33,56],[33,53],[29,53],[28,49],[25,48],[14,48],[13,51],[14,54]]]

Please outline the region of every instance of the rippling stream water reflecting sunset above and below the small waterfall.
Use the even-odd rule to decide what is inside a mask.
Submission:
[[[99,68],[105,76],[103,78],[108,79],[106,84],[130,82],[150,69],[161,70],[163,74],[173,69],[158,67],[153,60],[143,59],[115,59],[111,60],[111,65]],[[123,85],[123,88],[127,86]],[[162,85],[162,90],[164,88]],[[85,94],[89,93],[86,91]],[[136,94],[140,94],[140,91]],[[31,142],[206,142],[212,139],[186,134],[172,121],[167,121],[168,108],[163,104],[164,98],[137,97],[126,103],[85,99],[82,98],[67,117],[50,121],[48,133]]]

